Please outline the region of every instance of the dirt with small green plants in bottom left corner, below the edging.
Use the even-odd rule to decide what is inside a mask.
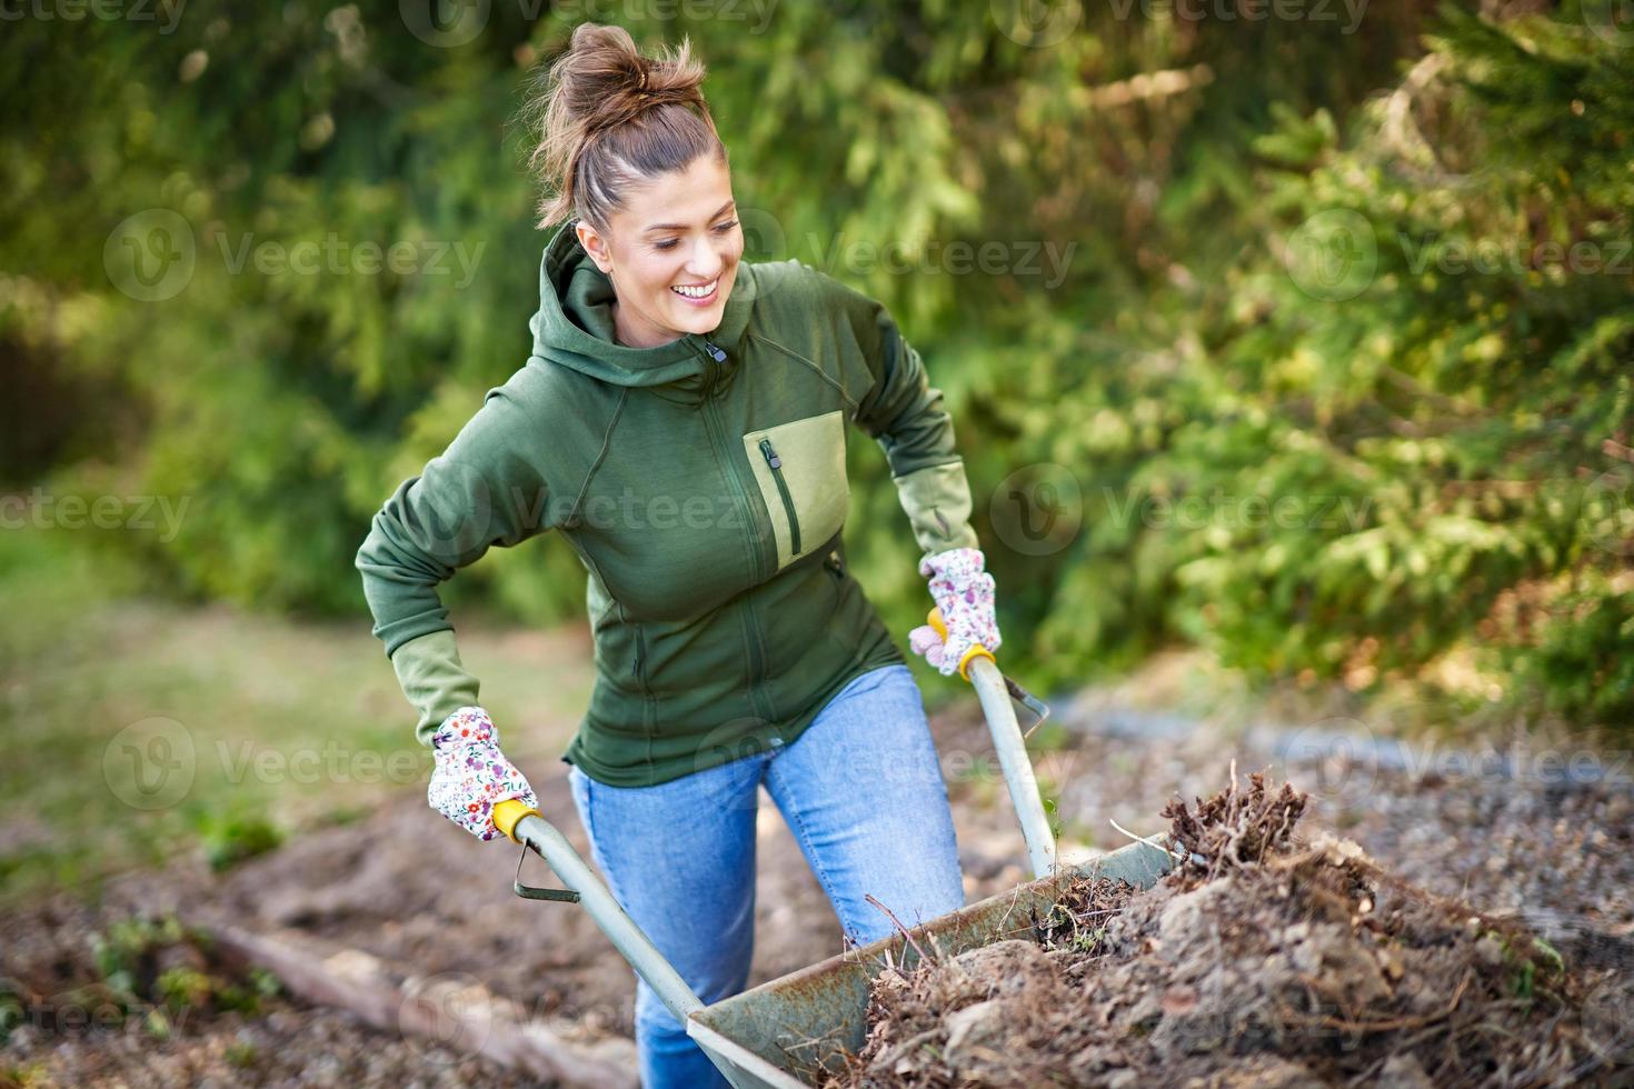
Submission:
[[[56,898],[8,918],[0,1087],[534,1084],[433,1040],[291,1001],[196,932],[118,916]],[[119,942],[134,927],[154,940]],[[108,944],[127,947],[124,978],[108,973]]]

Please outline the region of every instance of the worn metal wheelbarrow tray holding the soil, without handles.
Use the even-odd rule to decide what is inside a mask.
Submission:
[[[1131,842],[912,927],[912,936],[922,945],[935,939],[933,949],[949,957],[1025,937],[1034,919],[1042,919],[1078,878],[1121,878],[1150,888],[1170,865],[1162,847]],[[899,931],[693,1011],[686,1032],[739,1089],[802,1089],[810,1082],[794,1071],[815,1073],[820,1066],[842,1073],[842,1050],[855,1053],[863,1047],[874,976],[887,963],[912,967],[917,960],[918,953]]]

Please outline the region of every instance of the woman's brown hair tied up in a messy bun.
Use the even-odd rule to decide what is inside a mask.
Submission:
[[[606,232],[631,184],[699,155],[725,163],[703,82],[685,38],[673,56],[649,59],[621,26],[574,28],[567,52],[539,65],[523,106],[528,131],[541,134],[528,157],[544,189],[538,225],[577,214]]]

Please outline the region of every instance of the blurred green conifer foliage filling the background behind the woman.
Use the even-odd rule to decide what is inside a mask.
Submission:
[[[587,7],[422,36],[412,7],[193,0],[0,44],[3,483],[185,498],[172,540],[114,537],[172,593],[364,620],[369,516],[526,359],[508,121]],[[925,354],[1033,684],[1193,643],[1626,725],[1634,49],[1601,7],[600,18],[709,64],[748,256],[874,294]],[[132,238],[191,243],[185,286],[131,297]],[[301,242],[333,268],[258,263]],[[366,243],[415,268],[361,271]],[[905,518],[877,451],[851,472],[855,567],[905,632]],[[583,571],[546,539],[446,596],[549,624]]]

